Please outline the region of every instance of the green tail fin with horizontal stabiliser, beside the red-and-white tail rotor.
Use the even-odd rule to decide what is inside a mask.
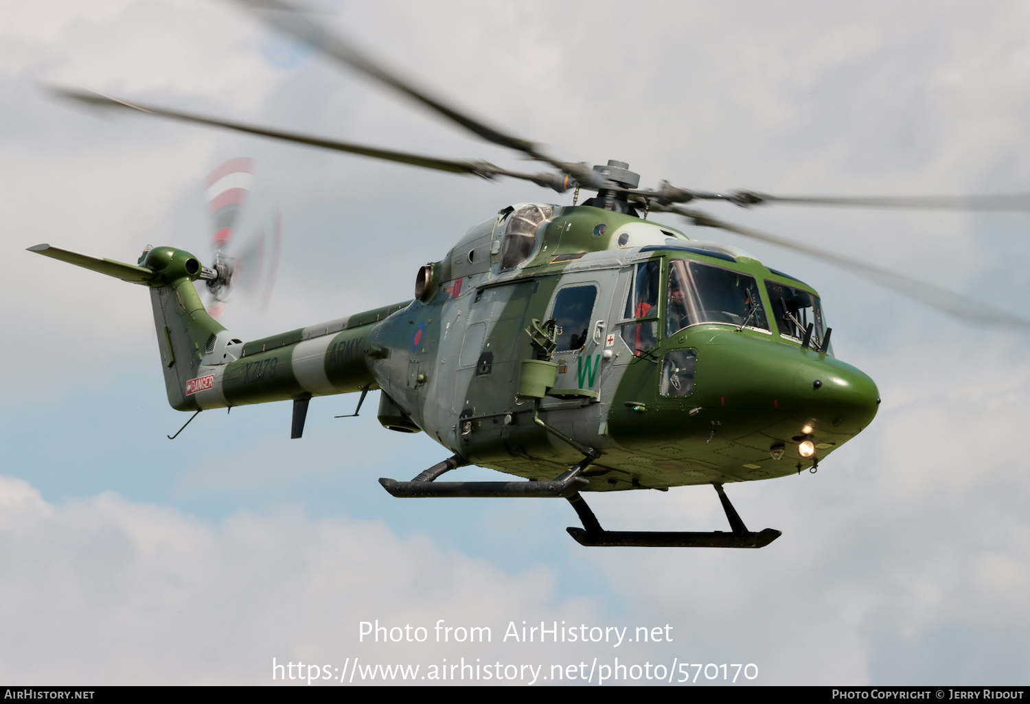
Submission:
[[[186,382],[197,377],[204,355],[216,346],[225,346],[232,337],[207,314],[194,288],[194,281],[214,272],[202,267],[190,252],[172,247],[145,252],[139,266],[98,259],[47,244],[29,247],[29,251],[149,287],[168,402],[177,411],[199,408],[194,398],[185,395]]]

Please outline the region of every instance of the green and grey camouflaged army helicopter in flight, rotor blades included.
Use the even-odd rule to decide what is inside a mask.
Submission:
[[[833,355],[832,330],[813,287],[737,248],[690,239],[648,219],[651,213],[791,247],[960,318],[1030,328],[937,287],[683,207],[724,201],[1028,210],[1030,197],[784,198],[665,181],[640,188],[628,164],[555,159],[428,95],[285,3],[243,4],[327,57],[554,171],[515,172],[56,91],[93,106],[575,189],[575,199],[564,207],[502,208],[418,270],[413,298],[247,342],[212,318],[197,293],[198,281],[219,294],[231,285],[232,272],[217,257],[208,268],[163,246],[130,265],[30,247],[150,289],[168,400],[194,412],[190,420],[204,410],[290,400],[290,436],[298,438],[313,396],[359,392],[356,415],[378,389],[385,428],[424,431],[451,453],[411,481],[381,479],[396,497],[564,498],[583,524],[568,531],[583,545],[762,548],[781,532],[749,531],[724,485],[815,471],[872,421],[879,391]],[[595,195],[580,205],[581,190]],[[524,481],[438,481],[469,464]],[[590,491],[706,484],[719,496],[729,532],[605,530],[583,498]]]

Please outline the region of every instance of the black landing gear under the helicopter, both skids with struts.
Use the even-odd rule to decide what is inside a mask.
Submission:
[[[587,485],[587,481],[579,474],[591,461],[592,457],[584,457],[550,482],[437,482],[437,478],[444,472],[469,463],[461,455],[456,454],[435,464],[410,482],[380,479],[379,484],[398,498],[445,496],[565,498],[573,504],[580,521],[583,522],[582,528],[565,530],[581,545],[589,548],[764,548],[782,535],[779,530],[772,528],[766,528],[758,533],[749,531],[733,508],[733,504],[729,502],[721,484],[712,486],[719,493],[722,508],[729,519],[729,526],[732,529],[730,533],[721,530],[711,533],[605,530],[579,493]]]

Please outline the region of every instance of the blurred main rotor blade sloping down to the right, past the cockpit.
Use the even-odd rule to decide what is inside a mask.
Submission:
[[[745,237],[761,240],[770,244],[787,247],[794,251],[816,257],[827,263],[846,269],[868,281],[889,288],[896,293],[919,301],[931,308],[947,313],[965,322],[976,324],[998,325],[1001,327],[1015,328],[1030,331],[1030,320],[1025,320],[1000,308],[975,301],[973,298],[954,293],[933,284],[924,283],[911,279],[902,274],[889,272],[871,265],[849,259],[847,257],[828,252],[809,245],[802,245],[791,240],[786,240],[776,235],[769,235],[750,227],[742,227],[723,220],[718,220],[705,213],[690,211],[683,208],[667,208],[670,212],[675,212],[693,220],[694,224],[719,227],[736,233]]]

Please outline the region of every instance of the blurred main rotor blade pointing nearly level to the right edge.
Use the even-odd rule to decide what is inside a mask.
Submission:
[[[739,205],[785,203],[787,205],[826,205],[866,208],[915,208],[924,210],[997,210],[1030,212],[1030,193],[996,196],[923,196],[923,197],[848,197],[848,196],[768,196],[742,191],[730,198]]]

